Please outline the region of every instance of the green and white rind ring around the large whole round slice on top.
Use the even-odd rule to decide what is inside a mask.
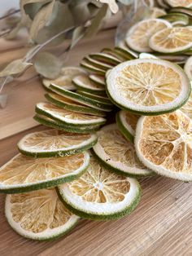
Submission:
[[[130,61],[132,61],[132,60],[130,60]],[[133,61],[135,61],[135,60],[133,60]],[[156,60],[155,59],[154,60],[151,59],[150,61],[156,61]],[[168,63],[167,60],[160,60],[160,61],[162,61],[162,62],[164,61],[164,62]],[[125,62],[124,62],[124,64],[125,64]],[[120,64],[120,65],[122,65],[122,64]],[[118,65],[118,66],[120,66],[120,65]],[[177,64],[174,64],[174,65],[177,66],[177,69],[180,70],[185,75],[183,69],[179,65],[177,65]],[[108,77],[109,77],[109,75],[107,76],[107,78]],[[189,80],[189,78],[186,75],[185,75],[185,80],[188,81],[188,90],[187,90],[187,93],[185,94],[185,98],[182,99],[182,101],[179,104],[173,106],[172,108],[168,108],[168,109],[162,110],[159,107],[159,111],[151,111],[151,110],[149,110],[149,111],[142,111],[142,110],[137,110],[137,109],[129,108],[128,106],[124,106],[123,104],[117,103],[116,100],[114,100],[111,97],[111,94],[110,94],[110,92],[108,90],[108,85],[106,86],[106,92],[107,92],[108,98],[111,99],[111,102],[113,104],[115,104],[117,107],[121,108],[121,109],[128,110],[131,113],[135,113],[135,114],[143,115],[143,116],[157,116],[157,115],[161,115],[163,113],[171,113],[171,112],[177,110],[178,108],[181,108],[187,102],[187,100],[190,98],[191,86],[190,86],[190,80]]]

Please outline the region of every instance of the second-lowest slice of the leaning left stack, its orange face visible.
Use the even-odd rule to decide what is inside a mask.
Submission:
[[[36,112],[72,126],[102,125],[106,122],[103,117],[75,113],[49,103],[38,103]]]

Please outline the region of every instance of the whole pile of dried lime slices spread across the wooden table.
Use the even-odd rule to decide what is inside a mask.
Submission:
[[[52,129],[24,136],[0,168],[7,221],[21,236],[122,218],[140,200],[137,178],[192,180],[191,1],[158,3],[119,46],[42,80],[47,101],[34,118]]]

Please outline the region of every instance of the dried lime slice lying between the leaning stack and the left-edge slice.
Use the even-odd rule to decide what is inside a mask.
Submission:
[[[63,157],[83,152],[97,142],[95,134],[76,135],[60,130],[43,130],[25,135],[18,148],[28,157]]]

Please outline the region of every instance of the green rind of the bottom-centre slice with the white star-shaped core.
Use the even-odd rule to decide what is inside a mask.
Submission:
[[[80,208],[77,208],[75,205],[71,205],[66,197],[63,195],[63,191],[61,188],[57,188],[59,198],[63,201],[63,204],[65,205],[68,210],[70,210],[73,214],[76,214],[77,216],[80,216],[81,218],[87,218],[91,220],[101,220],[101,221],[107,221],[112,219],[118,219],[123,218],[124,216],[131,214],[133,210],[137,207],[140,199],[141,199],[141,193],[142,189],[137,183],[138,192],[137,195],[134,197],[133,201],[124,207],[124,210],[121,210],[120,212],[114,213],[114,214],[91,214],[89,212],[82,211]]]

